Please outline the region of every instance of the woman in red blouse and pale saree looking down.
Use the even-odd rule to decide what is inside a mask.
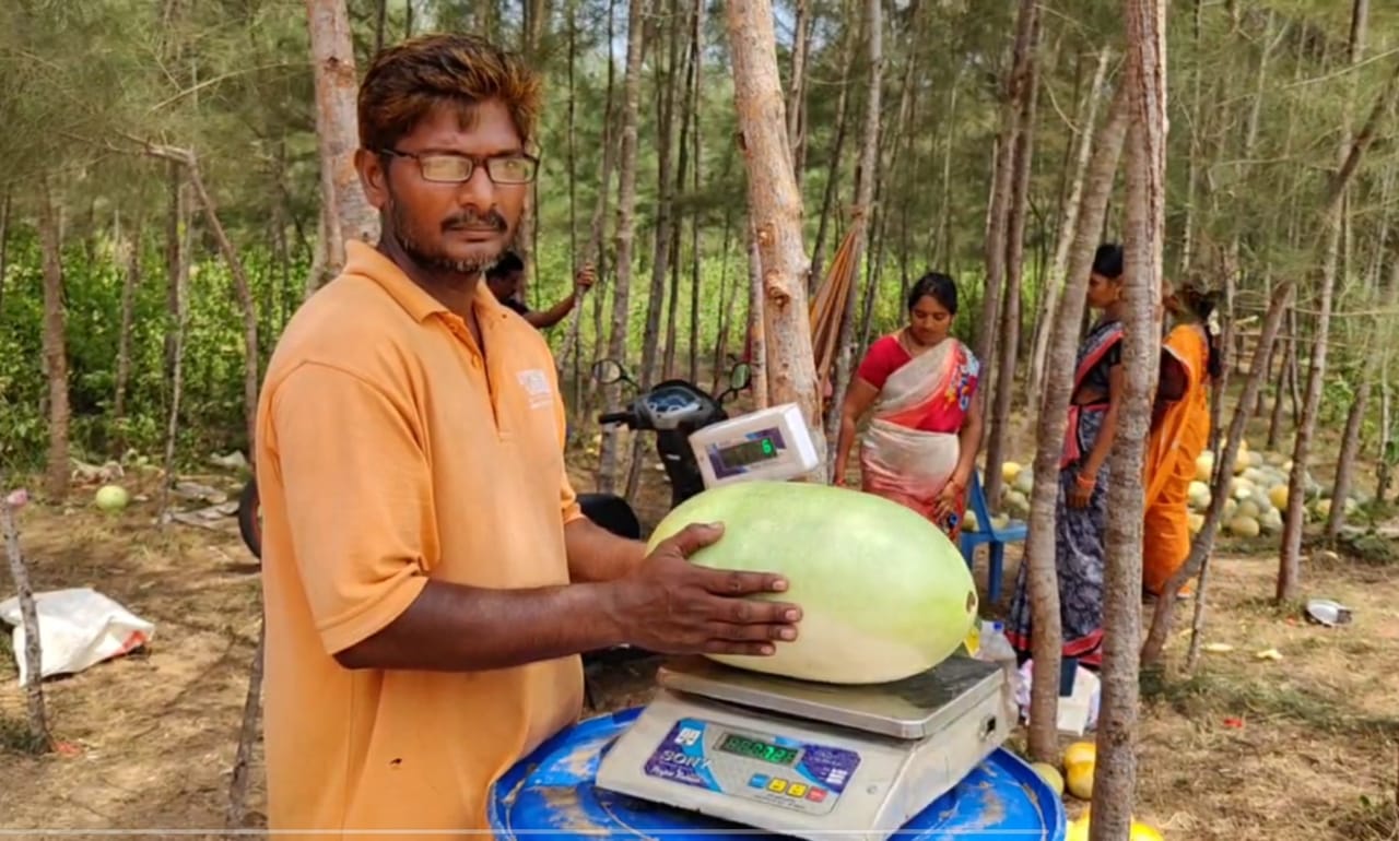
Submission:
[[[860,418],[873,418],[860,441],[860,489],[891,499],[961,532],[967,482],[981,446],[979,363],[949,331],[957,285],[929,272],[908,295],[908,324],[870,345],[851,377],[837,439],[837,485]]]

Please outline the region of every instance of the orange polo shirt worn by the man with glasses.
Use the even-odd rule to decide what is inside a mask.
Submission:
[[[273,353],[256,447],[273,830],[484,830],[491,784],[582,708],[578,657],[474,673],[333,658],[429,578],[569,580],[564,524],[581,514],[554,360],[485,284],[473,306],[484,356],[460,317],[350,242]]]

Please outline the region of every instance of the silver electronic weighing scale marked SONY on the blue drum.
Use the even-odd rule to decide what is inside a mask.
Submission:
[[[895,683],[835,686],[669,662],[597,788],[781,835],[884,841],[1013,724],[999,665],[956,657]]]

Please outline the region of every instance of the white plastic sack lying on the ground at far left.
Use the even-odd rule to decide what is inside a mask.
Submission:
[[[39,615],[41,679],[81,672],[140,648],[155,634],[154,624],[87,587],[39,592],[34,606]],[[20,665],[20,686],[24,686],[28,664],[20,597],[0,602],[0,619],[14,626],[14,661]]]

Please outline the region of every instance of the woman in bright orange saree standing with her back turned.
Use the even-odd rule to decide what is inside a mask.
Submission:
[[[1161,374],[1146,448],[1146,514],[1142,587],[1160,597],[1191,555],[1189,488],[1195,460],[1209,446],[1209,387],[1223,370],[1210,327],[1214,298],[1193,286],[1163,288],[1175,320],[1165,337]],[[1178,595],[1185,595],[1185,590]]]

